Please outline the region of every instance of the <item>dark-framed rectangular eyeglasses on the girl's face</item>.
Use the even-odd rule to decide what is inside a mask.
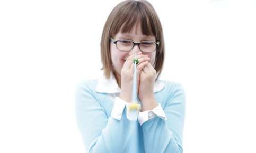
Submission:
[[[131,40],[125,40],[125,39],[120,39],[120,40],[114,40],[110,38],[110,41],[116,44],[116,47],[118,50],[123,51],[123,52],[128,52],[134,48],[135,45],[139,45],[139,49],[142,52],[154,52],[156,50],[156,47],[159,46],[159,42],[154,42],[154,41],[142,41],[135,43]]]

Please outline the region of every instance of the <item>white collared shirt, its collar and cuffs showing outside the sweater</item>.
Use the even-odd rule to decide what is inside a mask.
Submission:
[[[153,92],[159,92],[164,88],[164,83],[161,81],[156,81],[154,84]],[[107,79],[101,74],[98,84],[96,86],[96,92],[100,93],[108,93],[110,99],[114,102],[112,111],[111,111],[111,117],[117,120],[121,120],[122,118],[122,112],[130,106],[131,103],[122,100],[119,98],[121,89],[119,88],[116,78],[111,73],[110,78]],[[137,102],[140,104],[141,102],[139,99],[137,99]],[[129,120],[137,120],[142,125],[144,122],[154,118],[155,116],[158,116],[164,120],[166,120],[166,115],[161,107],[161,104],[158,104],[154,109],[147,110],[140,112],[139,110],[136,112],[136,117],[134,115],[129,114],[128,111],[126,111],[126,116]]]

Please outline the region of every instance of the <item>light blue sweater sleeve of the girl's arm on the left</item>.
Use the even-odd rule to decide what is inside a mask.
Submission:
[[[120,120],[108,118],[87,84],[76,92],[76,118],[88,153],[124,152],[134,130],[126,116]]]

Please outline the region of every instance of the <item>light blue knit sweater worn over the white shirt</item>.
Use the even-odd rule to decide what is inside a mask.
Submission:
[[[140,126],[127,119],[126,109],[120,121],[110,116],[113,101],[95,91],[97,81],[81,83],[76,92],[77,125],[88,153],[183,152],[186,98],[181,84],[162,81],[164,89],[154,95],[167,120],[156,116]]]

